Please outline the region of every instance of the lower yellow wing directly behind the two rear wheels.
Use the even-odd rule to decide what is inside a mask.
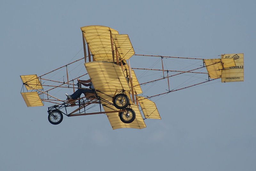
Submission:
[[[94,88],[97,90],[98,96],[101,98],[101,104],[105,112],[109,111],[119,111],[113,105],[110,105],[108,102],[112,102],[112,97],[115,95],[116,90],[125,90],[125,94],[129,97],[130,102],[132,99],[129,96],[128,92],[131,91],[130,86],[126,80],[124,72],[121,66],[118,66],[111,62],[88,62],[84,64],[86,70],[92,80]],[[104,100],[103,100],[104,99]],[[113,129],[118,128],[145,128],[145,122],[141,116],[140,110],[137,105],[131,105],[131,108],[135,112],[135,120],[132,123],[126,124],[123,123],[119,116],[118,112],[116,113],[107,113],[108,120]]]

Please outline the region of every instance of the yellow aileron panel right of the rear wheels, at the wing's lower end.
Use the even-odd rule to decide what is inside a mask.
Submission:
[[[141,109],[146,119],[161,119],[154,102],[141,96],[137,96],[137,99],[139,100]]]

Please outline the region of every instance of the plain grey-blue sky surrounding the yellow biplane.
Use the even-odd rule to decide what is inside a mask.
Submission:
[[[254,170],[255,7],[255,1],[0,2],[0,169]],[[113,131],[105,115],[51,125],[47,105],[26,107],[19,75],[67,64],[83,47],[79,27],[86,25],[128,34],[138,54],[244,53],[245,82],[156,98],[162,120],[145,120],[142,130]]]

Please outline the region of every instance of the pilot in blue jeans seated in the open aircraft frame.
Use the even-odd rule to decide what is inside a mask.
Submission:
[[[84,86],[87,86],[87,87],[89,86],[90,89],[79,89],[79,88],[78,88],[78,89],[75,91],[75,93],[73,93],[73,94],[71,94],[71,95],[68,95],[68,94],[66,93],[66,96],[68,97],[68,99],[77,99],[78,97],[81,96],[82,93],[84,93],[84,95],[85,95],[85,93],[93,93],[93,92],[94,92],[94,87],[93,87],[93,85],[92,85],[91,79],[89,79],[89,80],[79,80],[79,78],[78,78],[77,81],[78,81],[79,83],[83,84]],[[88,84],[86,84],[86,83],[88,83]],[[85,95],[85,96],[86,96],[86,95]]]

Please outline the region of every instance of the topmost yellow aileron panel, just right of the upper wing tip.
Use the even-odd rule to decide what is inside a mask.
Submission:
[[[112,35],[119,57],[127,60],[135,54],[128,35]]]

